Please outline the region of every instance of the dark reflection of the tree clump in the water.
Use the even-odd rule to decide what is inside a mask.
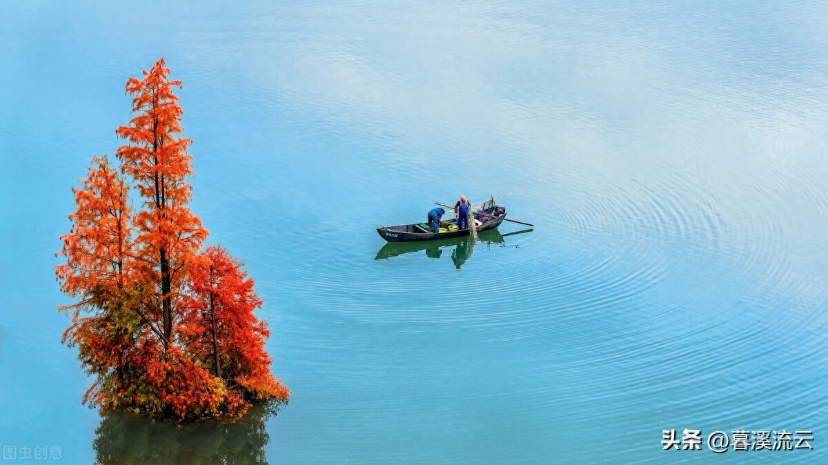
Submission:
[[[95,463],[267,463],[264,448],[270,436],[265,425],[281,406],[278,402],[253,405],[233,423],[178,423],[124,412],[106,413],[95,429]]]

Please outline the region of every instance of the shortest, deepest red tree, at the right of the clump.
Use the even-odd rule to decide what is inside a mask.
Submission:
[[[223,247],[207,247],[188,284],[181,324],[188,351],[244,399],[286,399],[289,391],[269,369],[267,323],[253,314],[262,300],[242,263]]]

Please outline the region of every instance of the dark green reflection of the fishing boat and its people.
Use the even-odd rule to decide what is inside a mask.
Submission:
[[[460,267],[469,261],[472,252],[474,252],[475,245],[501,245],[506,243],[505,237],[513,236],[515,234],[522,234],[524,232],[532,232],[533,229],[524,229],[522,231],[509,232],[508,234],[501,234],[497,229],[480,232],[476,241],[472,241],[470,237],[455,237],[454,239],[444,239],[440,241],[423,241],[423,242],[388,242],[383,248],[379,249],[374,260],[388,259],[392,256],[401,256],[407,253],[426,252],[429,258],[440,258],[445,249],[450,249],[451,261],[454,262],[455,267],[460,270]]]

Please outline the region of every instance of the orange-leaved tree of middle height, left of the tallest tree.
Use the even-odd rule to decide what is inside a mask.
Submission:
[[[60,237],[66,262],[55,266],[60,290],[77,299],[61,306],[71,315],[63,342],[79,347],[79,359],[98,377],[84,402],[106,403],[102,386],[128,383],[130,348],[140,332],[141,292],[134,280],[128,189],[107,156],[92,159],[75,194],[72,227]],[[114,389],[118,389],[117,387]]]

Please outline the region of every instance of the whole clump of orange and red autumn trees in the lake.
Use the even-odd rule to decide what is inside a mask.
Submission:
[[[55,266],[63,342],[94,382],[83,402],[179,419],[236,419],[254,402],[286,400],[270,371],[262,300],[243,263],[205,247],[190,211],[190,139],[181,137],[181,81],[164,60],[130,78],[134,117],[116,130],[118,165],[95,156],[73,188],[71,228]],[[134,189],[140,199],[132,205]]]

